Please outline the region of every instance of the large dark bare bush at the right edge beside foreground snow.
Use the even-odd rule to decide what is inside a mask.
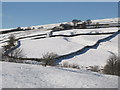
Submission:
[[[104,66],[103,73],[120,76],[120,57],[111,55]]]

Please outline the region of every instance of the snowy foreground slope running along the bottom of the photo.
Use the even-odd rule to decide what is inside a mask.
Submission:
[[[3,88],[117,88],[118,77],[81,69],[0,62]],[[1,78],[1,77],[0,77]]]

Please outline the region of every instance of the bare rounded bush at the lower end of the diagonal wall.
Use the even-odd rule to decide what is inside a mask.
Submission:
[[[45,55],[43,55],[42,57],[42,62],[43,62],[43,66],[55,66],[57,65],[56,63],[56,58],[58,57],[57,54],[55,53],[46,53]]]

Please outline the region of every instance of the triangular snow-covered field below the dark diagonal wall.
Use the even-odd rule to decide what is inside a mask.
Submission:
[[[118,54],[118,36],[110,41],[102,43],[98,49],[91,49],[88,52],[75,56],[71,59],[65,59],[62,62],[75,63],[81,66],[104,66],[112,53]]]

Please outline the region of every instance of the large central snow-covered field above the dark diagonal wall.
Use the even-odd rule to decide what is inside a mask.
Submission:
[[[64,55],[83,48],[86,45],[93,45],[97,40],[106,37],[101,36],[77,36],[77,37],[53,37],[38,40],[22,40],[21,48],[27,57],[42,57],[47,52],[54,52]]]

